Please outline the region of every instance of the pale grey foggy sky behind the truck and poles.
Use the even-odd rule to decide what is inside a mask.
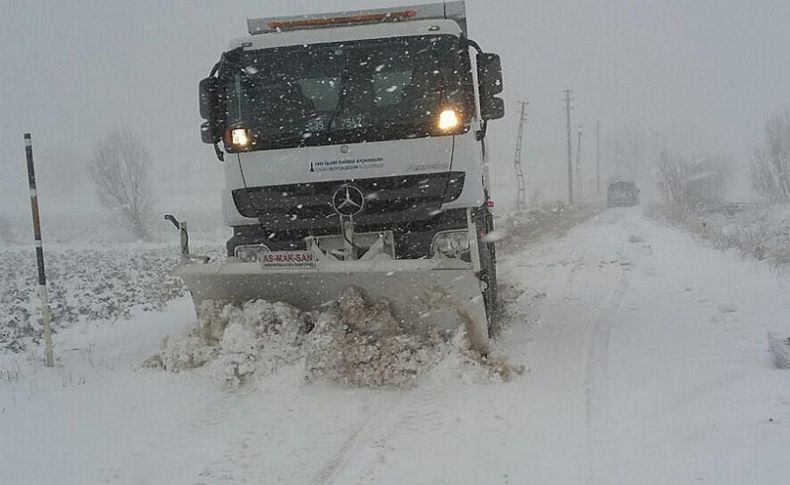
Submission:
[[[246,34],[246,18],[412,3],[0,0],[0,212],[26,207],[27,131],[45,170],[42,203],[48,191],[90,192],[59,181],[81,173],[96,140],[120,126],[142,137],[160,182],[194,168],[188,183],[219,190],[221,167],[200,141],[197,83]],[[528,184],[552,198],[564,196],[565,88],[574,90],[574,128],[585,129],[587,176],[596,119],[607,160],[612,140],[639,133],[646,156],[666,146],[744,162],[790,99],[786,0],[467,0],[467,8],[470,37],[503,58],[508,114],[491,124],[503,206],[514,191],[519,100],[530,102]],[[218,209],[213,197],[204,203]]]

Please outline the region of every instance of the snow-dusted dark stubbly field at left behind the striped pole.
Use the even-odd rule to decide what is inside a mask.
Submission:
[[[44,257],[56,331],[80,321],[109,324],[133,309],[158,310],[186,291],[170,275],[179,261],[172,244],[54,244]],[[0,351],[22,350],[40,334],[37,284],[32,249],[0,248]]]

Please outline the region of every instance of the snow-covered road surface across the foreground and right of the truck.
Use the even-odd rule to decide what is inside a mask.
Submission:
[[[788,483],[790,372],[766,338],[790,334],[776,274],[638,209],[500,267],[496,353],[529,368],[506,384],[454,359],[406,392],[296,368],[236,391],[134,370],[192,319],[186,300],[62,332],[62,367],[0,375],[0,482]]]

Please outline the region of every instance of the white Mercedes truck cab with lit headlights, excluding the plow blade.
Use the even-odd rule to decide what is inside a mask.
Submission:
[[[339,231],[346,185],[363,194],[355,228],[395,228],[404,258],[487,210],[501,70],[467,39],[463,2],[248,27],[200,85],[203,140],[225,161],[229,255]]]

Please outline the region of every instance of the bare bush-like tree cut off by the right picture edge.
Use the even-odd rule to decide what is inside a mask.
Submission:
[[[751,164],[752,187],[771,202],[790,200],[790,115],[774,115]]]

